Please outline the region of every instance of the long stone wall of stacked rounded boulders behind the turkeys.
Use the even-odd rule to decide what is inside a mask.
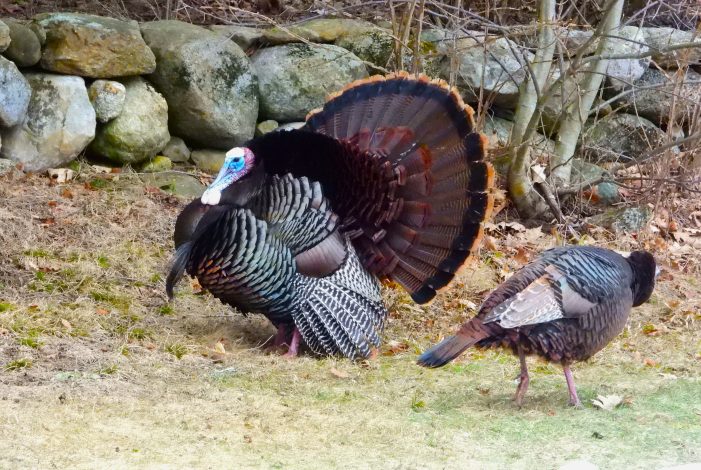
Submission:
[[[557,30],[565,54],[591,34]],[[623,27],[616,36],[613,54],[693,40],[692,33],[671,28]],[[444,78],[451,63],[457,66],[456,84],[466,101],[488,97],[498,115],[508,117],[526,76],[524,61],[533,55],[533,34],[514,37],[521,43],[427,30],[421,64]],[[0,157],[26,171],[66,165],[83,152],[144,171],[173,162],[216,171],[228,148],[256,133],[294,126],[328,93],[391,68],[393,40],[389,30],[353,19],[263,30],[52,13],[31,21],[2,19],[0,53]],[[689,70],[681,77],[689,84],[675,85],[677,60],[699,64],[701,48],[684,54],[610,62],[602,93],[602,100],[612,100],[608,115],[583,134],[578,156],[591,163],[578,162],[576,175],[596,174],[602,170],[592,163],[630,158],[661,142],[670,118],[684,132],[686,117],[701,101],[701,75]],[[554,64],[553,80],[561,67],[567,61]],[[675,86],[679,97],[671,115]],[[631,88],[638,89],[626,94]],[[574,93],[576,86],[565,80],[545,106],[543,133],[554,135],[562,102]],[[483,131],[499,147],[508,142],[511,126],[492,117]],[[542,135],[534,145],[547,153],[553,143]]]

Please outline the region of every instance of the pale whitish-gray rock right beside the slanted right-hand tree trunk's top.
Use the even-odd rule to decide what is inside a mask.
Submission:
[[[636,26],[624,26],[611,33],[608,47],[604,51],[606,55],[634,55],[647,52],[649,48],[645,43],[642,28]],[[650,66],[650,57],[640,59],[613,59],[609,60],[606,75],[609,84],[615,90],[622,90],[635,80],[643,76]]]

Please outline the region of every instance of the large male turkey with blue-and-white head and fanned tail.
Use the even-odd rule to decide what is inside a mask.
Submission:
[[[387,315],[378,278],[419,303],[467,261],[493,181],[472,109],[442,81],[406,73],[351,83],[296,131],[227,153],[180,214],[167,280],[187,271],[276,344],[367,357]]]

